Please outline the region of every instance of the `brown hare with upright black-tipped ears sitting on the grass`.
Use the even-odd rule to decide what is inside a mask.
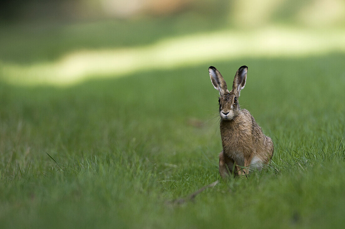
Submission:
[[[262,169],[270,162],[274,147],[272,139],[264,135],[249,111],[239,107],[238,97],[246,84],[248,67],[242,66],[237,70],[231,91],[228,91],[223,76],[215,67],[210,66],[208,71],[213,86],[220,94],[221,178],[226,178],[229,173],[247,175],[250,168]]]

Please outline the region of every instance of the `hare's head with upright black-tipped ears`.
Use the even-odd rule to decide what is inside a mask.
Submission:
[[[231,120],[239,113],[238,97],[239,93],[246,85],[247,66],[240,67],[235,75],[233,82],[233,89],[228,91],[227,85],[223,76],[213,66],[208,68],[210,78],[215,89],[219,91],[219,114],[222,119]]]

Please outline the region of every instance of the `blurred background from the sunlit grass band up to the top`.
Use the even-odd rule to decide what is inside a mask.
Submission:
[[[0,20],[9,83],[345,52],[343,0],[14,0]]]

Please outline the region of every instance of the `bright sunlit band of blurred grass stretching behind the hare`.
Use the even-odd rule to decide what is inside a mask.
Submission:
[[[161,40],[114,50],[81,50],[59,60],[33,64],[1,63],[1,77],[13,84],[67,85],[85,79],[148,69],[211,65],[244,57],[287,57],[345,52],[345,31],[267,28],[257,31],[218,31]]]

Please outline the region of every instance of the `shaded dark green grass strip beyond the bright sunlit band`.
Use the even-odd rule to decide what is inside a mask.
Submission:
[[[164,38],[206,33],[227,26],[226,1],[207,7],[200,4],[194,10],[159,18],[2,23],[0,43],[5,45],[0,46],[0,60],[12,63],[53,61],[73,51],[147,45]]]

